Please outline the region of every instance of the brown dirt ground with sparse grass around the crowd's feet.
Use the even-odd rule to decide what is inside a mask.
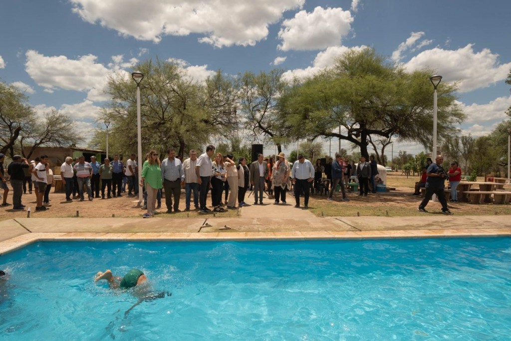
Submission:
[[[369,194],[367,197],[358,196],[358,193],[348,193],[351,201],[340,201],[341,193],[334,194],[334,201],[327,200],[326,195],[311,196],[309,202],[309,211],[318,216],[421,216],[424,213],[417,211],[422,198],[420,196],[411,196],[411,185],[415,181],[414,178],[408,179],[404,175],[389,175],[387,185],[396,187],[395,191]],[[53,189],[52,189],[53,191]],[[211,192],[210,192],[211,193]],[[25,194],[22,202],[31,208],[33,217],[76,217],[77,211],[79,216],[88,217],[141,217],[145,212],[138,206],[137,197],[128,197],[123,193],[122,197],[111,199],[95,198],[93,201],[65,202],[64,193],[51,193],[51,207],[48,211],[35,212],[35,194]],[[251,199],[251,198],[250,198]],[[303,202],[303,198],[301,198]],[[250,203],[251,200],[246,199]],[[12,204],[12,190],[9,192],[7,202]],[[211,196],[208,196],[208,204],[211,203]],[[266,203],[272,203],[272,199],[265,199]],[[288,204],[294,204],[292,193],[288,193]],[[495,205],[481,204],[473,205],[469,203],[449,203],[451,211],[455,215],[511,215],[511,205]],[[439,214],[440,203],[430,202],[427,210],[434,214]],[[181,192],[179,209],[184,210],[184,190]],[[217,214],[221,217],[236,217],[238,214],[243,216],[243,211],[250,210],[250,207],[237,210],[229,210],[225,213]],[[157,210],[158,217],[196,217],[200,214],[197,211],[165,213],[165,198],[162,198],[162,208]],[[0,220],[11,219],[16,217],[27,217],[27,211],[14,211],[12,205],[8,207],[0,207]]]

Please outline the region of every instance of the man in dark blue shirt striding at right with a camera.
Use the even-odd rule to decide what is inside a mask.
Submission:
[[[442,212],[447,215],[452,215],[452,212],[449,211],[447,207],[446,194],[444,192],[444,181],[447,177],[447,172],[442,168],[442,163],[444,162],[444,157],[442,155],[437,155],[435,162],[429,165],[426,178],[426,195],[419,205],[419,211],[426,211],[426,205],[433,194],[436,194],[438,197],[438,201],[442,204]]]

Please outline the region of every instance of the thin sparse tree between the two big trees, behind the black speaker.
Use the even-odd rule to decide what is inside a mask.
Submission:
[[[283,70],[274,69],[258,75],[246,72],[240,77],[241,111],[245,118],[245,129],[255,141],[263,135],[269,138],[282,152],[288,142],[291,126],[280,115],[279,99],[287,90],[282,80]]]

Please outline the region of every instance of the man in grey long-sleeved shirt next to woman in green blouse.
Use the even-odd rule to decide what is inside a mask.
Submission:
[[[161,179],[165,189],[167,213],[172,212],[172,207],[174,207],[174,212],[181,212],[179,210],[179,196],[181,195],[181,184],[184,184],[183,165],[176,157],[174,149],[169,148],[167,155],[169,157],[161,162]],[[174,196],[174,204],[172,203],[172,196]]]

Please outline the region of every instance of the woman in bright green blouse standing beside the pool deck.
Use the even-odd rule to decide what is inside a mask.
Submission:
[[[142,179],[140,180],[140,186],[144,187],[145,183],[147,191],[147,213],[144,213],[144,218],[151,218],[154,215],[156,194],[158,189],[163,187],[160,165],[158,154],[155,150],[151,150],[148,160],[142,166]]]

